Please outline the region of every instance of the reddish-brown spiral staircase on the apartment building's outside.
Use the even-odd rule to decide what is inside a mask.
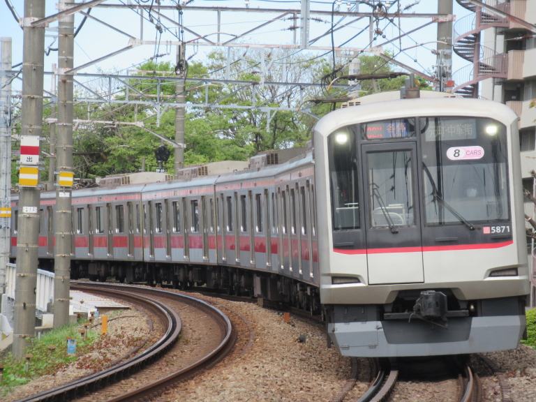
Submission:
[[[456,2],[473,14],[466,15],[454,24],[452,50],[471,64],[452,74],[452,79],[456,83],[452,92],[464,98],[478,98],[479,82],[487,78],[505,79],[508,67],[506,53],[498,53],[480,44],[482,31],[491,27],[507,28],[509,22],[506,18],[493,15],[469,1],[456,0]],[[483,2],[502,11],[509,11],[508,3],[498,3],[497,0]]]

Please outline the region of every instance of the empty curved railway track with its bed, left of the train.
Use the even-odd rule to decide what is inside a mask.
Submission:
[[[154,398],[170,389],[175,383],[190,378],[195,373],[215,364],[232,349],[235,334],[230,320],[204,301],[165,290],[140,288],[127,285],[103,283],[73,283],[72,289],[119,299],[135,304],[148,311],[153,320],[164,327],[163,336],[154,345],[140,354],[110,367],[105,371],[89,375],[47,392],[20,399],[29,401],[142,401]],[[182,307],[180,307],[182,306]],[[186,306],[186,307],[185,307]],[[186,366],[163,371],[155,362],[181,348],[177,343],[183,325],[177,311],[179,308],[195,309],[203,318],[216,324],[216,339],[208,342],[210,350],[204,350]],[[214,325],[211,324],[213,327]],[[214,337],[213,337],[214,338]],[[151,374],[152,371],[156,373]],[[132,384],[135,384],[135,387]],[[134,388],[134,389],[133,389]],[[89,396],[88,396],[89,395]]]

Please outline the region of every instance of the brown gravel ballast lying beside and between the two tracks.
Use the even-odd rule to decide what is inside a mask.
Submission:
[[[205,298],[209,299],[209,298]],[[283,315],[254,304],[217,300],[225,313],[232,311],[247,318],[254,337],[241,333],[239,350],[227,357],[210,371],[184,382],[163,394],[161,402],[225,402],[225,401],[306,401],[327,402],[338,394],[350,375],[350,359],[342,357],[334,348],[326,347],[322,329],[292,317],[285,323]],[[124,315],[139,315],[136,311],[125,311]],[[232,315],[232,313],[230,313]],[[236,318],[235,318],[236,319]],[[129,322],[129,320],[133,320]],[[120,331],[126,335],[136,327],[135,336],[147,335],[149,329],[140,322],[144,318],[122,318],[109,323],[110,332]],[[144,332],[145,331],[145,332]],[[301,339],[300,339],[301,338]],[[305,341],[303,341],[305,340]],[[251,342],[253,341],[253,342]],[[247,347],[245,345],[248,344]],[[107,353],[116,358],[129,350],[121,345],[110,346]],[[536,401],[536,350],[520,345],[516,350],[483,354],[491,359],[506,375],[512,387],[512,401]],[[368,364],[359,359],[359,380],[351,392],[364,392],[368,386]],[[362,374],[363,373],[363,374]],[[71,365],[56,375],[47,375],[17,387],[2,401],[9,402],[36,393],[61,382],[68,382],[87,375]],[[484,400],[501,401],[496,379],[482,374]],[[416,396],[417,397],[417,396]]]

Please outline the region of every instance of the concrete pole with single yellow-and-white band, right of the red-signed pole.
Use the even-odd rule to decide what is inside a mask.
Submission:
[[[60,0],[59,10],[66,10]],[[73,190],[73,68],[75,15],[59,20],[58,36],[58,121],[57,121],[57,188],[54,216],[54,328],[69,322],[69,286],[71,253],[71,193]]]

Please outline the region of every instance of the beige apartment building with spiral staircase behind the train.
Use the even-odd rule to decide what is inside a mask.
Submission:
[[[484,1],[499,12],[476,1],[456,1],[471,13],[454,24],[453,49],[470,64],[453,74],[454,91],[506,103],[519,115],[523,187],[534,194],[530,170],[536,170],[536,107],[530,102],[536,98],[536,1]],[[526,202],[525,214],[534,216],[532,202]],[[532,248],[528,244],[528,253]],[[536,304],[534,263],[530,304]]]

